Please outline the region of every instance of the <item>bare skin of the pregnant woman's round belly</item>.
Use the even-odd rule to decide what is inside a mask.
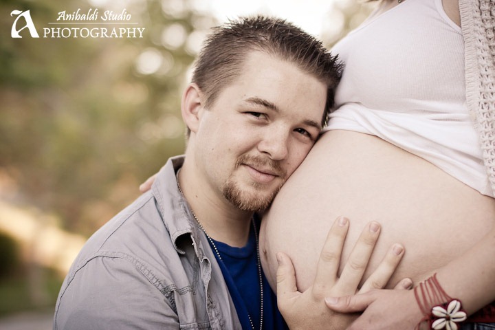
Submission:
[[[393,287],[404,277],[419,283],[472,247],[494,225],[495,199],[378,137],[329,131],[263,217],[261,261],[273,289],[276,252],[292,259],[300,291],[313,283],[323,242],[340,215],[350,220],[342,261],[366,223],[382,225],[364,278],[393,243],[405,246],[388,283]]]

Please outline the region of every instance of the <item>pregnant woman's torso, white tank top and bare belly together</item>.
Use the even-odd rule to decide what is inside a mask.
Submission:
[[[407,0],[403,4],[410,6],[408,14],[419,20],[421,17],[413,15],[413,6],[438,3]],[[371,220],[382,224],[382,234],[369,270],[393,243],[406,246],[404,261],[391,284],[404,276],[413,281],[426,278],[492,228],[495,201],[472,188],[486,188],[486,178],[478,175],[483,173],[481,150],[463,107],[463,50],[447,52],[441,59],[428,56],[428,50],[443,52],[444,47],[438,45],[443,39],[421,37],[421,29],[407,24],[408,17],[397,21],[399,10],[404,9],[397,6],[347,37],[359,39],[361,29],[383,29],[380,19],[395,20],[396,28],[380,32],[388,38],[377,35],[377,40],[368,43],[355,41],[369,48],[342,54],[347,65],[342,82],[347,87],[339,87],[336,100],[343,105],[339,111],[345,111],[342,115],[337,111],[331,118],[332,130],[322,135],[287,181],[263,221],[261,243],[267,252],[263,264],[272,284],[274,253],[278,251],[292,257],[299,289],[312,283],[322,242],[339,215],[351,219],[344,259]],[[444,12],[429,15],[432,17],[425,21],[443,26],[450,36],[443,40],[445,45],[457,45],[459,38],[462,43],[460,31]],[[426,50],[424,39],[430,40]],[[395,42],[407,56],[393,58],[401,54],[394,52]],[[366,58],[370,65],[362,64]],[[438,79],[452,81],[444,86]]]

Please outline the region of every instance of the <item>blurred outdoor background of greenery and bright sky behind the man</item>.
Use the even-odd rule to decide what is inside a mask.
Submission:
[[[43,38],[78,8],[125,9],[143,37]],[[12,10],[30,10],[41,38],[12,38]],[[371,10],[355,0],[0,1],[0,329],[52,329],[83,243],[184,152],[181,92],[212,26],[272,14],[331,47]]]

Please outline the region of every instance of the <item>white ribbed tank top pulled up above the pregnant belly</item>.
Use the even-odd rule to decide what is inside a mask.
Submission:
[[[461,28],[441,0],[406,0],[332,52],[345,67],[325,131],[377,135],[494,196],[465,106]]]

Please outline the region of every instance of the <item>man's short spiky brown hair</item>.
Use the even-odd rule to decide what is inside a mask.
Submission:
[[[192,82],[203,92],[210,107],[223,88],[242,73],[245,58],[259,51],[294,63],[303,72],[327,85],[327,104],[322,124],[333,107],[341,65],[322,43],[292,23],[272,17],[241,17],[213,28],[195,64]]]

